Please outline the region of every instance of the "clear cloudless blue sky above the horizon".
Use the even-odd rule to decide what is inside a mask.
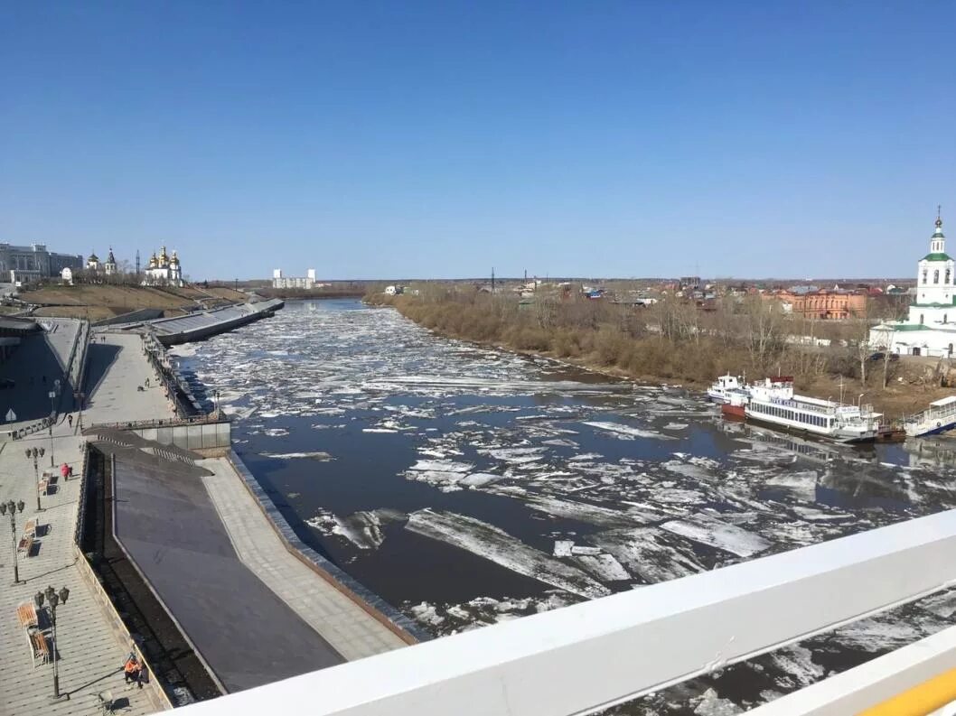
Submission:
[[[3,4],[0,240],[193,279],[909,276],[953,2]]]

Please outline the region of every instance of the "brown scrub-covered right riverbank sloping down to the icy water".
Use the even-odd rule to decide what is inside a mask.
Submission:
[[[635,331],[626,325],[629,317],[619,310],[612,316],[614,323],[606,321],[606,313],[591,312],[585,320],[575,317],[583,326],[567,326],[554,315],[542,315],[533,304],[512,301],[509,305],[507,300],[490,296],[462,302],[450,297],[443,300],[373,294],[364,300],[368,305],[392,306],[405,318],[448,338],[546,357],[641,383],[704,391],[716,376],[726,372],[750,376],[792,374],[801,394],[820,399],[842,395],[845,402],[856,402],[862,394],[863,402],[871,403],[891,420],[922,411],[930,401],[953,393],[952,388],[941,385],[947,382],[949,366],[939,359],[891,361],[886,366],[887,385],[883,388],[882,362],[868,361],[866,380],[861,381],[858,360],[846,355],[845,350],[840,354],[837,349],[784,344],[776,353],[765,356],[762,365],[754,365],[753,352],[746,347],[710,336],[668,340],[663,331],[649,332],[646,325]],[[557,310],[579,308],[566,305]],[[554,306],[550,309],[553,312]],[[638,320],[643,323],[645,319],[639,316]]]

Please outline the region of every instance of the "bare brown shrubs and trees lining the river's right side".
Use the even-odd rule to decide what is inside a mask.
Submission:
[[[646,308],[583,297],[491,295],[428,286],[419,295],[365,297],[392,305],[406,318],[442,335],[487,346],[551,356],[640,381],[680,383],[705,390],[717,375],[793,375],[797,390],[846,402],[872,403],[890,417],[922,410],[950,394],[948,362],[874,361],[859,340],[868,323],[810,324],[779,305],[749,297],[702,311],[683,301]],[[804,346],[790,336],[845,336],[829,347]]]

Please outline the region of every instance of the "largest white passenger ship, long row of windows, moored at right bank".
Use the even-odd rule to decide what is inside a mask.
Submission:
[[[880,432],[880,413],[868,405],[842,405],[793,394],[793,378],[767,378],[747,388],[748,420],[816,435],[842,443],[872,442]]]

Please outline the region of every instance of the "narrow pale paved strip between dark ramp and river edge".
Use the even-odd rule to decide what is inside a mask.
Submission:
[[[354,661],[406,645],[289,553],[226,458],[196,464],[213,473],[203,481],[239,558],[339,654]]]

